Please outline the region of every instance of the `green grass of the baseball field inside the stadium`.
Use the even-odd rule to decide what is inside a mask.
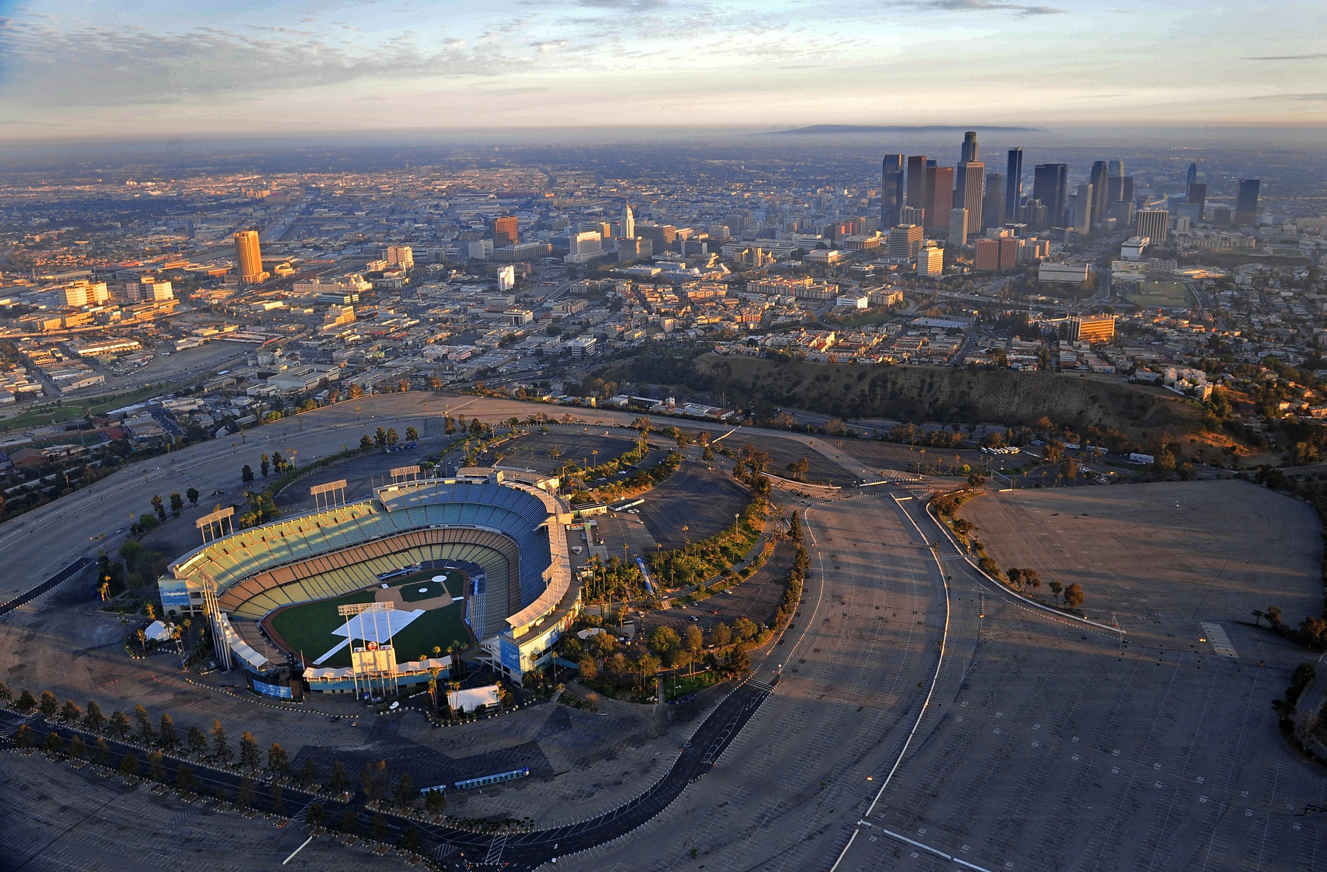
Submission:
[[[402,599],[407,603],[433,605],[437,600],[446,597],[449,605],[426,611],[411,621],[406,628],[393,637],[397,649],[397,662],[418,660],[421,656],[433,657],[433,649],[441,648],[443,652],[453,642],[459,641],[468,648],[471,644],[470,628],[466,625],[466,604],[450,603],[453,593],[447,585],[435,584],[433,576],[446,576],[450,587],[455,588],[455,596],[460,596],[464,585],[464,576],[455,571],[427,571],[397,579],[391,583],[401,591]],[[409,585],[409,588],[406,588]],[[427,593],[419,593],[421,587],[427,587]],[[414,599],[411,599],[414,597]],[[338,605],[352,603],[372,603],[372,591],[356,591],[329,600],[316,600],[281,609],[272,616],[272,629],[295,652],[301,653],[309,662],[321,657],[341,641],[341,636],[334,636],[332,630],[341,626],[345,618],[337,615]],[[324,666],[349,666],[350,648],[342,648],[334,656],[322,662]]]

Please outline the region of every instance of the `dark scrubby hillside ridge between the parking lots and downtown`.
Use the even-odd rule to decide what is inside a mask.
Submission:
[[[1174,394],[1078,374],[947,366],[856,366],[702,354],[693,386],[844,418],[1113,427],[1144,442],[1198,430],[1200,410]]]

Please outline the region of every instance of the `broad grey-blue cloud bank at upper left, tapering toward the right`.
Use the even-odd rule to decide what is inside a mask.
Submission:
[[[365,78],[496,76],[504,60],[451,40],[419,46],[411,35],[398,35],[377,44],[336,42],[293,29],[153,33],[11,21],[0,41],[5,101],[40,106],[171,104]]]

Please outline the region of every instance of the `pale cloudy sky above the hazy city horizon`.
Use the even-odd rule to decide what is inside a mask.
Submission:
[[[0,0],[0,139],[1327,126],[1323,33],[1322,0]]]

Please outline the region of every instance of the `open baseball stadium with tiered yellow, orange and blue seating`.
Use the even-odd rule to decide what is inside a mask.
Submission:
[[[556,479],[394,472],[354,503],[344,482],[314,486],[317,511],[259,527],[227,528],[232,510],[199,519],[203,544],[158,580],[163,609],[206,616],[219,664],[277,698],[385,695],[462,654],[519,684],[580,599]]]

